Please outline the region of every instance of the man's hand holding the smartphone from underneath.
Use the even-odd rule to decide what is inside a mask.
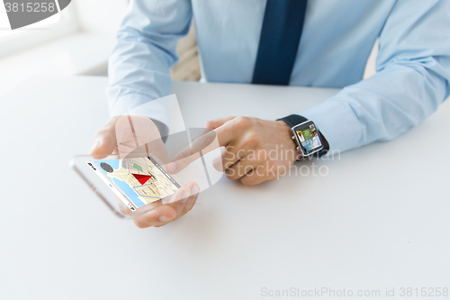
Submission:
[[[150,154],[163,163],[168,159],[157,126],[144,115],[114,116],[95,133],[90,155],[95,159],[102,159],[112,153],[118,154],[121,159]],[[159,200],[139,208],[148,211],[133,221],[139,228],[160,227],[171,223],[193,208],[199,192],[199,186],[193,182],[188,183],[171,196],[170,203],[163,205]],[[130,214],[125,205],[118,205],[124,214]]]

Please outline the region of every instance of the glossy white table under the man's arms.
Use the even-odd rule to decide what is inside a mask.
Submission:
[[[450,104],[395,141],[316,161],[326,177],[260,186],[223,177],[184,218],[139,230],[67,167],[107,120],[106,85],[31,77],[0,100],[1,299],[247,300],[291,287],[382,296],[387,287],[398,297],[401,287],[450,287]],[[226,115],[275,119],[337,93],[173,89],[193,127]],[[437,150],[421,157],[423,145]]]

